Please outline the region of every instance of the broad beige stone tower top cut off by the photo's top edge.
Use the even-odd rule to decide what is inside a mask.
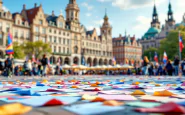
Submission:
[[[79,13],[80,9],[78,7],[78,4],[76,3],[76,0],[69,0],[66,8],[66,20],[79,22]]]

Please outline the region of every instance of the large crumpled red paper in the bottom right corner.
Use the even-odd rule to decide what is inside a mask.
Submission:
[[[154,108],[137,108],[135,111],[143,113],[185,113],[185,108],[169,102]]]

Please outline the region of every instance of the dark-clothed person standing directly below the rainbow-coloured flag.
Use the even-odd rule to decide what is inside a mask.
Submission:
[[[7,73],[8,73],[8,77],[12,77],[12,75],[13,75],[13,64],[14,64],[14,60],[13,60],[13,56],[11,54],[6,59],[6,62],[7,62]]]

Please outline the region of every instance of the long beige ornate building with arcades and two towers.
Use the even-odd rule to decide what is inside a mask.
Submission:
[[[8,31],[13,41],[22,44],[26,41],[42,40],[50,43],[53,55],[50,61],[61,64],[87,64],[89,66],[112,64],[112,27],[107,14],[98,36],[96,29],[87,31],[80,22],[80,8],[76,0],[69,0],[66,19],[56,16],[54,11],[44,13],[42,4],[27,9],[23,5],[20,13],[11,14],[2,9],[0,0],[0,57],[5,53]]]

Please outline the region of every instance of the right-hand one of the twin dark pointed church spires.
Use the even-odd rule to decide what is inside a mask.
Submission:
[[[167,20],[166,20],[166,23],[169,25],[169,26],[173,26],[175,24],[175,20],[174,20],[174,17],[173,17],[173,11],[172,11],[172,5],[171,5],[171,2],[169,2],[169,5],[168,5],[168,14],[167,14]]]

